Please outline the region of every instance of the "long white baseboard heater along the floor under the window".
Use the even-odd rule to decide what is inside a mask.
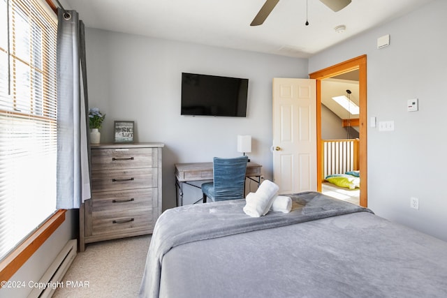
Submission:
[[[34,288],[34,290],[29,294],[29,298],[39,297],[39,298],[50,298],[57,289],[58,282],[62,281],[66,271],[70,267],[71,263],[76,257],[78,249],[78,241],[76,239],[68,240],[67,244],[62,248],[61,252],[52,262],[52,265],[45,271],[39,284],[47,285],[45,288],[39,289]]]

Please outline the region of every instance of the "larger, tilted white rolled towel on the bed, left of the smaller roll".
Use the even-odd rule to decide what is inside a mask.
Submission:
[[[247,195],[244,207],[245,214],[251,217],[264,216],[272,207],[273,199],[279,191],[279,186],[272,181],[264,180],[256,193]]]

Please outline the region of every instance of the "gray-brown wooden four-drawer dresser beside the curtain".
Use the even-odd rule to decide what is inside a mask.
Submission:
[[[80,208],[85,244],[150,234],[161,214],[162,143],[91,145],[91,199]]]

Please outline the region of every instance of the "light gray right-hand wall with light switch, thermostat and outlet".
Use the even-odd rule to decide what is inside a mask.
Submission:
[[[427,4],[399,20],[309,59],[309,73],[367,54],[367,109],[395,131],[368,128],[368,206],[377,215],[447,240],[444,194],[447,142],[447,1]],[[376,39],[390,34],[390,45]],[[406,100],[419,99],[407,112]],[[419,210],[410,208],[411,196]]]

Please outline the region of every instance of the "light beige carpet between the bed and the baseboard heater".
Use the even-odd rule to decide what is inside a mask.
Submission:
[[[150,239],[145,235],[87,244],[65,274],[64,288],[57,288],[53,297],[137,297]]]

